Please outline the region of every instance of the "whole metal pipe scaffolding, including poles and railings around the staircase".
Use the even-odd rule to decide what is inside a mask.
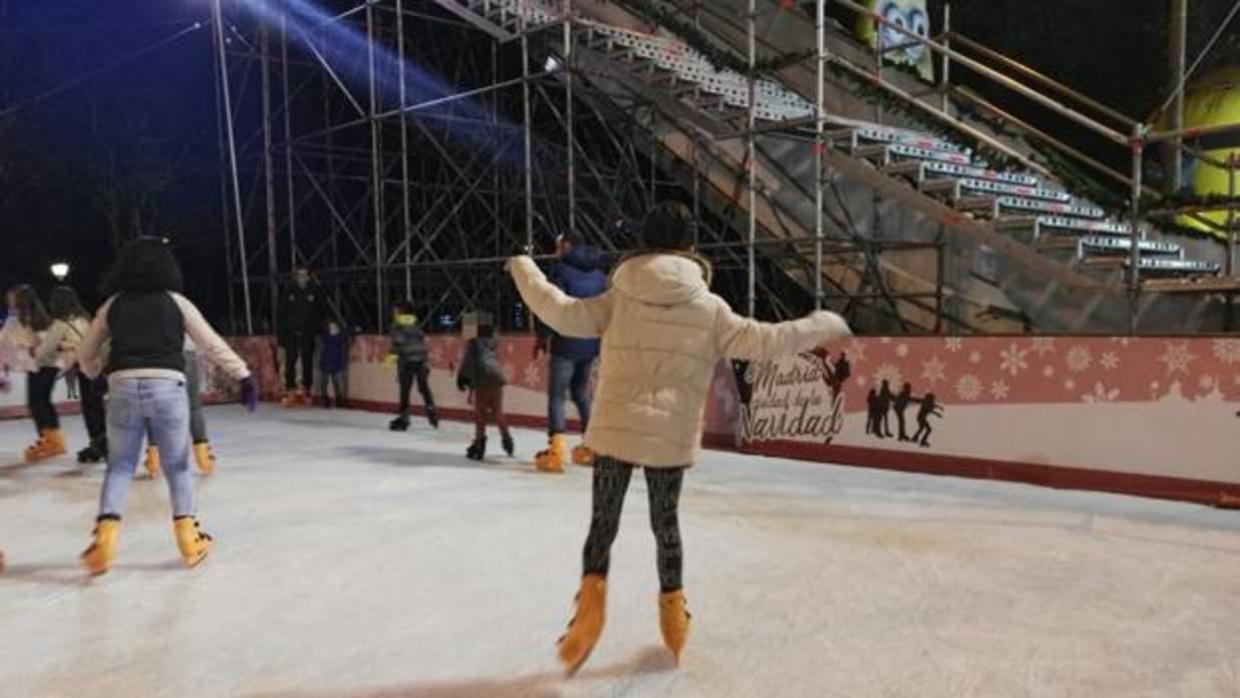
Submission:
[[[588,1],[593,0],[577,0]],[[951,31],[950,7],[944,31],[935,37],[892,26],[940,60],[937,84],[913,94],[884,74],[885,50],[875,50],[868,64],[830,50],[828,5],[868,12],[851,0],[764,1],[761,7],[756,0],[660,0],[663,11],[692,26],[713,22],[738,37],[734,48],[743,46],[740,69],[748,81],[745,109],[729,107],[723,98],[717,102],[720,120],[730,124],[728,133],[703,139],[702,131],[684,129],[691,143],[672,151],[650,124],[652,114],[666,117],[676,109],[676,95],[632,89],[591,60],[595,25],[578,21],[574,0],[538,4],[553,6],[551,14],[531,11],[533,0],[212,4],[234,331],[279,326],[280,285],[298,267],[312,272],[336,315],[350,326],[382,331],[393,300],[409,299],[432,329],[450,327],[474,307],[492,310],[505,329],[527,329],[529,319],[502,270],[507,257],[517,250],[549,252],[557,234],[575,231],[620,258],[639,247],[636,229],[644,213],[667,198],[691,203],[697,248],[715,264],[717,290],[750,316],[785,319],[828,306],[854,324],[859,320],[863,331],[985,331],[954,314],[952,290],[945,288],[950,255],[942,227],[932,242],[858,234],[833,183],[832,167],[841,160],[826,130],[832,119],[826,109],[828,68],[852,73],[1030,172],[1049,174],[1027,151],[957,118],[954,100],[991,113],[997,108],[954,86],[952,66],[1131,149],[1133,170],[1125,175],[1001,114],[1027,139],[1049,144],[1131,188],[1131,254],[1126,283],[1117,289],[1130,294],[1130,331],[1136,331],[1151,293],[1221,295],[1230,306],[1240,289],[1234,218],[1226,223],[1228,278],[1192,286],[1141,278],[1137,224],[1152,213],[1141,208],[1142,193],[1148,193],[1142,182],[1147,145],[1169,141],[1178,151],[1204,157],[1187,138],[1234,135],[1240,125],[1209,134],[1153,133]],[[758,22],[781,12],[808,15],[816,35],[811,50],[789,52],[758,36]],[[492,24],[486,16],[495,14],[500,19]],[[805,89],[801,83],[800,92],[812,94],[812,114],[759,123],[760,81],[787,79],[789,71],[805,64],[812,64],[812,84]],[[600,81],[620,92],[601,89]],[[675,87],[675,77],[668,84]],[[1178,92],[1183,88],[1180,81]],[[883,123],[882,105],[874,112],[874,120]],[[1131,133],[1099,119],[1118,120]],[[770,161],[760,139],[776,131],[807,139],[812,146],[812,185],[801,196],[812,201],[815,212],[812,223],[801,228],[785,224],[776,193],[759,181],[759,167]],[[709,176],[717,162],[711,160],[712,148],[727,140],[740,140],[744,154],[733,180],[720,183]],[[1226,165],[1234,179],[1235,162]],[[905,201],[916,196],[890,188],[884,195]],[[1234,193],[1228,198],[1229,208],[1235,200]],[[759,211],[766,216],[760,218]],[[961,223],[956,216],[949,218]],[[1032,253],[1018,252],[1029,260]],[[883,260],[906,253],[932,259],[923,264],[931,268],[929,284],[923,279],[893,286]],[[841,269],[848,273],[841,275]],[[1060,279],[1070,285],[1079,276],[1065,272]],[[1048,291],[1045,299],[1050,298]],[[920,319],[910,322],[915,315]],[[1083,312],[1081,321],[1087,315]],[[1230,316],[1229,311],[1228,322]]]

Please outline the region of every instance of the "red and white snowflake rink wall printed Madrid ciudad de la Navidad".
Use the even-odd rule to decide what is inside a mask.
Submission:
[[[264,397],[277,398],[275,342],[232,343]],[[387,351],[387,337],[353,341],[352,407],[396,409]],[[500,351],[510,379],[505,410],[516,424],[546,426],[546,357],[534,358],[531,336],[505,337]],[[460,337],[430,340],[432,389],[446,419],[472,419],[455,384],[463,352]],[[208,402],[236,399],[232,381],[210,367],[203,373]],[[25,414],[24,377],[12,379],[0,417]],[[63,399],[63,383],[57,389]],[[423,414],[417,391],[413,399]],[[1238,412],[1235,337],[858,337],[825,357],[722,362],[703,441],[755,455],[1238,506]],[[900,439],[901,413],[909,440]]]

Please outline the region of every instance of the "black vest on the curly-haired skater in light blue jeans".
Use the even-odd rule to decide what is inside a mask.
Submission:
[[[185,373],[185,316],[167,291],[120,294],[108,309],[105,373],[165,368]]]

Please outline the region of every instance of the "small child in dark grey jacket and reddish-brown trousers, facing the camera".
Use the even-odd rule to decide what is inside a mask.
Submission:
[[[479,312],[472,324],[477,330],[465,345],[465,357],[456,372],[456,388],[474,391],[474,443],[465,451],[470,460],[486,457],[486,423],[494,418],[500,428],[500,444],[503,453],[512,456],[512,434],[503,418],[503,367],[500,366],[498,342],[495,338],[495,324],[490,314]]]

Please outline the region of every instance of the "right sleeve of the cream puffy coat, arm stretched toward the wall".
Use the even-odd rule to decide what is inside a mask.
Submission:
[[[852,336],[843,317],[817,311],[787,322],[759,322],[742,317],[719,300],[715,317],[719,353],[758,361],[811,350],[828,340]]]

